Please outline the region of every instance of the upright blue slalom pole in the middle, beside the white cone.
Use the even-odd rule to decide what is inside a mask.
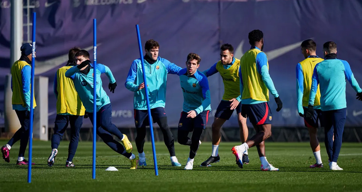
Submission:
[[[97,21],[93,19],[93,171],[92,179],[96,179],[96,138],[97,138]]]

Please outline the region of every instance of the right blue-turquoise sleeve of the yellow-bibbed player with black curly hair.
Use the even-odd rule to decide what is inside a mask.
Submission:
[[[271,80],[268,70],[268,58],[264,52],[260,52],[256,55],[256,69],[261,75],[265,86],[268,88],[270,93],[275,97],[279,97],[277,90],[275,90],[273,80]]]

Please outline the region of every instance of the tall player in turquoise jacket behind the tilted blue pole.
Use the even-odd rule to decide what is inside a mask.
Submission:
[[[163,133],[165,145],[170,153],[172,166],[181,166],[176,158],[173,135],[167,123],[165,112],[166,81],[167,74],[177,74],[182,68],[158,56],[160,45],[150,39],[144,45],[145,56],[144,67],[147,78],[148,96],[150,98],[151,116]],[[134,117],[136,125],[136,147],[139,154],[139,165],[147,166],[146,156],[143,151],[144,138],[146,137],[146,126],[149,126],[146,95],[144,91],[143,72],[140,58],[133,61],[128,73],[125,86],[134,93]]]

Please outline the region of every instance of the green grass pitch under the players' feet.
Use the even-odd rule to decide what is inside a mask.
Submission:
[[[0,141],[4,145],[7,141]],[[134,142],[135,154],[138,154]],[[249,149],[250,163],[237,167],[231,153],[233,145],[220,144],[219,163],[199,167],[211,154],[211,143],[203,142],[195,157],[194,169],[184,170],[189,147],[176,143],[176,156],[182,167],[172,167],[167,148],[156,143],[159,176],[155,176],[151,143],[145,144],[147,167],[130,170],[127,158],[118,155],[102,142],[97,143],[96,180],[92,179],[92,143],[80,142],[73,160],[76,167],[66,168],[68,141],[62,141],[53,167],[47,166],[50,141],[34,141],[32,182],[27,183],[27,166],[15,165],[19,143],[10,150],[10,163],[0,162],[0,191],[362,191],[362,144],[343,143],[338,165],[343,171],[331,171],[327,153],[321,144],[324,168],[310,169],[315,162],[309,143],[266,143],[269,163],[278,172],[260,171],[256,148]],[[26,153],[26,156],[28,154]],[[105,171],[109,166],[119,171]]]

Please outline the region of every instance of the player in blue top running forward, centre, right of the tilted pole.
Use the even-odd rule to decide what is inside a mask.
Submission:
[[[182,107],[180,122],[178,123],[178,143],[190,145],[190,155],[185,169],[191,170],[194,164],[196,152],[199,149],[200,137],[205,130],[209,118],[210,90],[209,82],[204,74],[197,71],[201,58],[196,53],[189,53],[186,68],[177,74],[184,95],[184,106]],[[188,137],[192,132],[191,139]]]

